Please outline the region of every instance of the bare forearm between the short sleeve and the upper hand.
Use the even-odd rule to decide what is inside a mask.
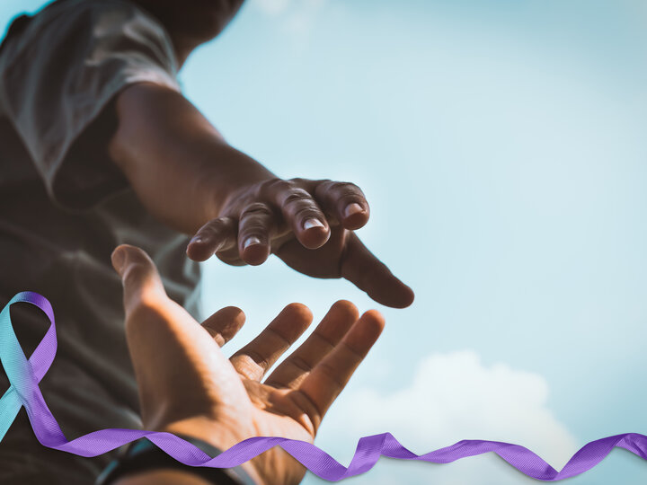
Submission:
[[[219,215],[233,190],[274,178],[227,145],[181,93],[134,84],[116,101],[111,158],[146,208],[186,234]]]

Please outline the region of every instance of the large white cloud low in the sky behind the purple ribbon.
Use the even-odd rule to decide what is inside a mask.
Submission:
[[[417,454],[461,439],[489,439],[524,445],[560,469],[578,446],[546,407],[547,397],[541,375],[503,364],[483,366],[473,351],[435,354],[421,361],[412,384],[399,391],[343,393],[324,419],[317,445],[348,464],[359,437],[386,431]],[[318,480],[310,476],[308,482]],[[352,482],[536,483],[493,454],[444,465],[383,459]]]

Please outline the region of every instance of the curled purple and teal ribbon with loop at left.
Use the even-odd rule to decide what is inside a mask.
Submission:
[[[16,338],[9,316],[9,307],[18,302],[38,306],[47,314],[51,322],[45,337],[29,360],[25,357]],[[18,411],[24,406],[31,428],[40,444],[67,453],[86,457],[96,456],[146,437],[165,453],[187,465],[230,468],[251,460],[274,446],[280,446],[305,465],[310,472],[327,481],[340,481],[368,472],[380,456],[430,463],[450,463],[467,456],[493,452],[519,472],[542,481],[559,481],[586,472],[602,461],[616,446],[647,460],[647,436],[637,433],[591,441],[582,446],[560,472],[554,470],[537,454],[520,445],[497,441],[463,440],[455,445],[419,455],[407,450],[390,433],[360,438],[348,467],[343,466],[315,445],[281,437],[249,438],[215,458],[211,458],[180,437],[155,431],[102,429],[68,441],[45,403],[39,388],[40,380],[47,373],[56,356],[56,349],[54,312],[47,298],[32,292],[22,292],[13,296],[0,313],[0,360],[10,382],[9,389],[0,399],[0,441],[11,427]]]

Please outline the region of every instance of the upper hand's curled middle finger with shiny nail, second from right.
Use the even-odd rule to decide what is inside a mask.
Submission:
[[[283,219],[308,249],[320,248],[330,237],[330,227],[315,198],[295,181],[272,181],[264,187],[280,208]]]

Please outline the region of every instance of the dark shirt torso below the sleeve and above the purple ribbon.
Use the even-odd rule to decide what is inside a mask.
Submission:
[[[1,106],[0,167],[0,304],[34,291],[49,299],[57,319],[58,353],[42,382],[45,399],[74,435],[137,425],[111,251],[120,243],[144,249],[167,293],[199,318],[199,266],[186,257],[188,237],[157,222],[132,190],[79,214],[56,206]],[[14,314],[22,345],[34,348],[46,319],[29,309]]]

